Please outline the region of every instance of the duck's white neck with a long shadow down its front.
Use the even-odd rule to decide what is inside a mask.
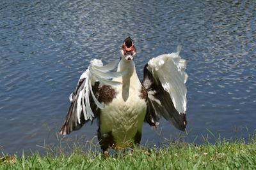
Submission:
[[[125,74],[122,76],[122,97],[124,101],[127,101],[131,83],[135,83],[133,81],[138,80],[133,60],[125,60],[122,58],[118,65],[118,71],[125,71]]]

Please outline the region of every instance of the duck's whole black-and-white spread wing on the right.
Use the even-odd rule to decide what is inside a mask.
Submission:
[[[186,128],[186,60],[178,52],[155,57],[144,67],[142,84],[148,92],[148,109],[145,122],[151,126],[159,124],[159,118],[184,131]]]

